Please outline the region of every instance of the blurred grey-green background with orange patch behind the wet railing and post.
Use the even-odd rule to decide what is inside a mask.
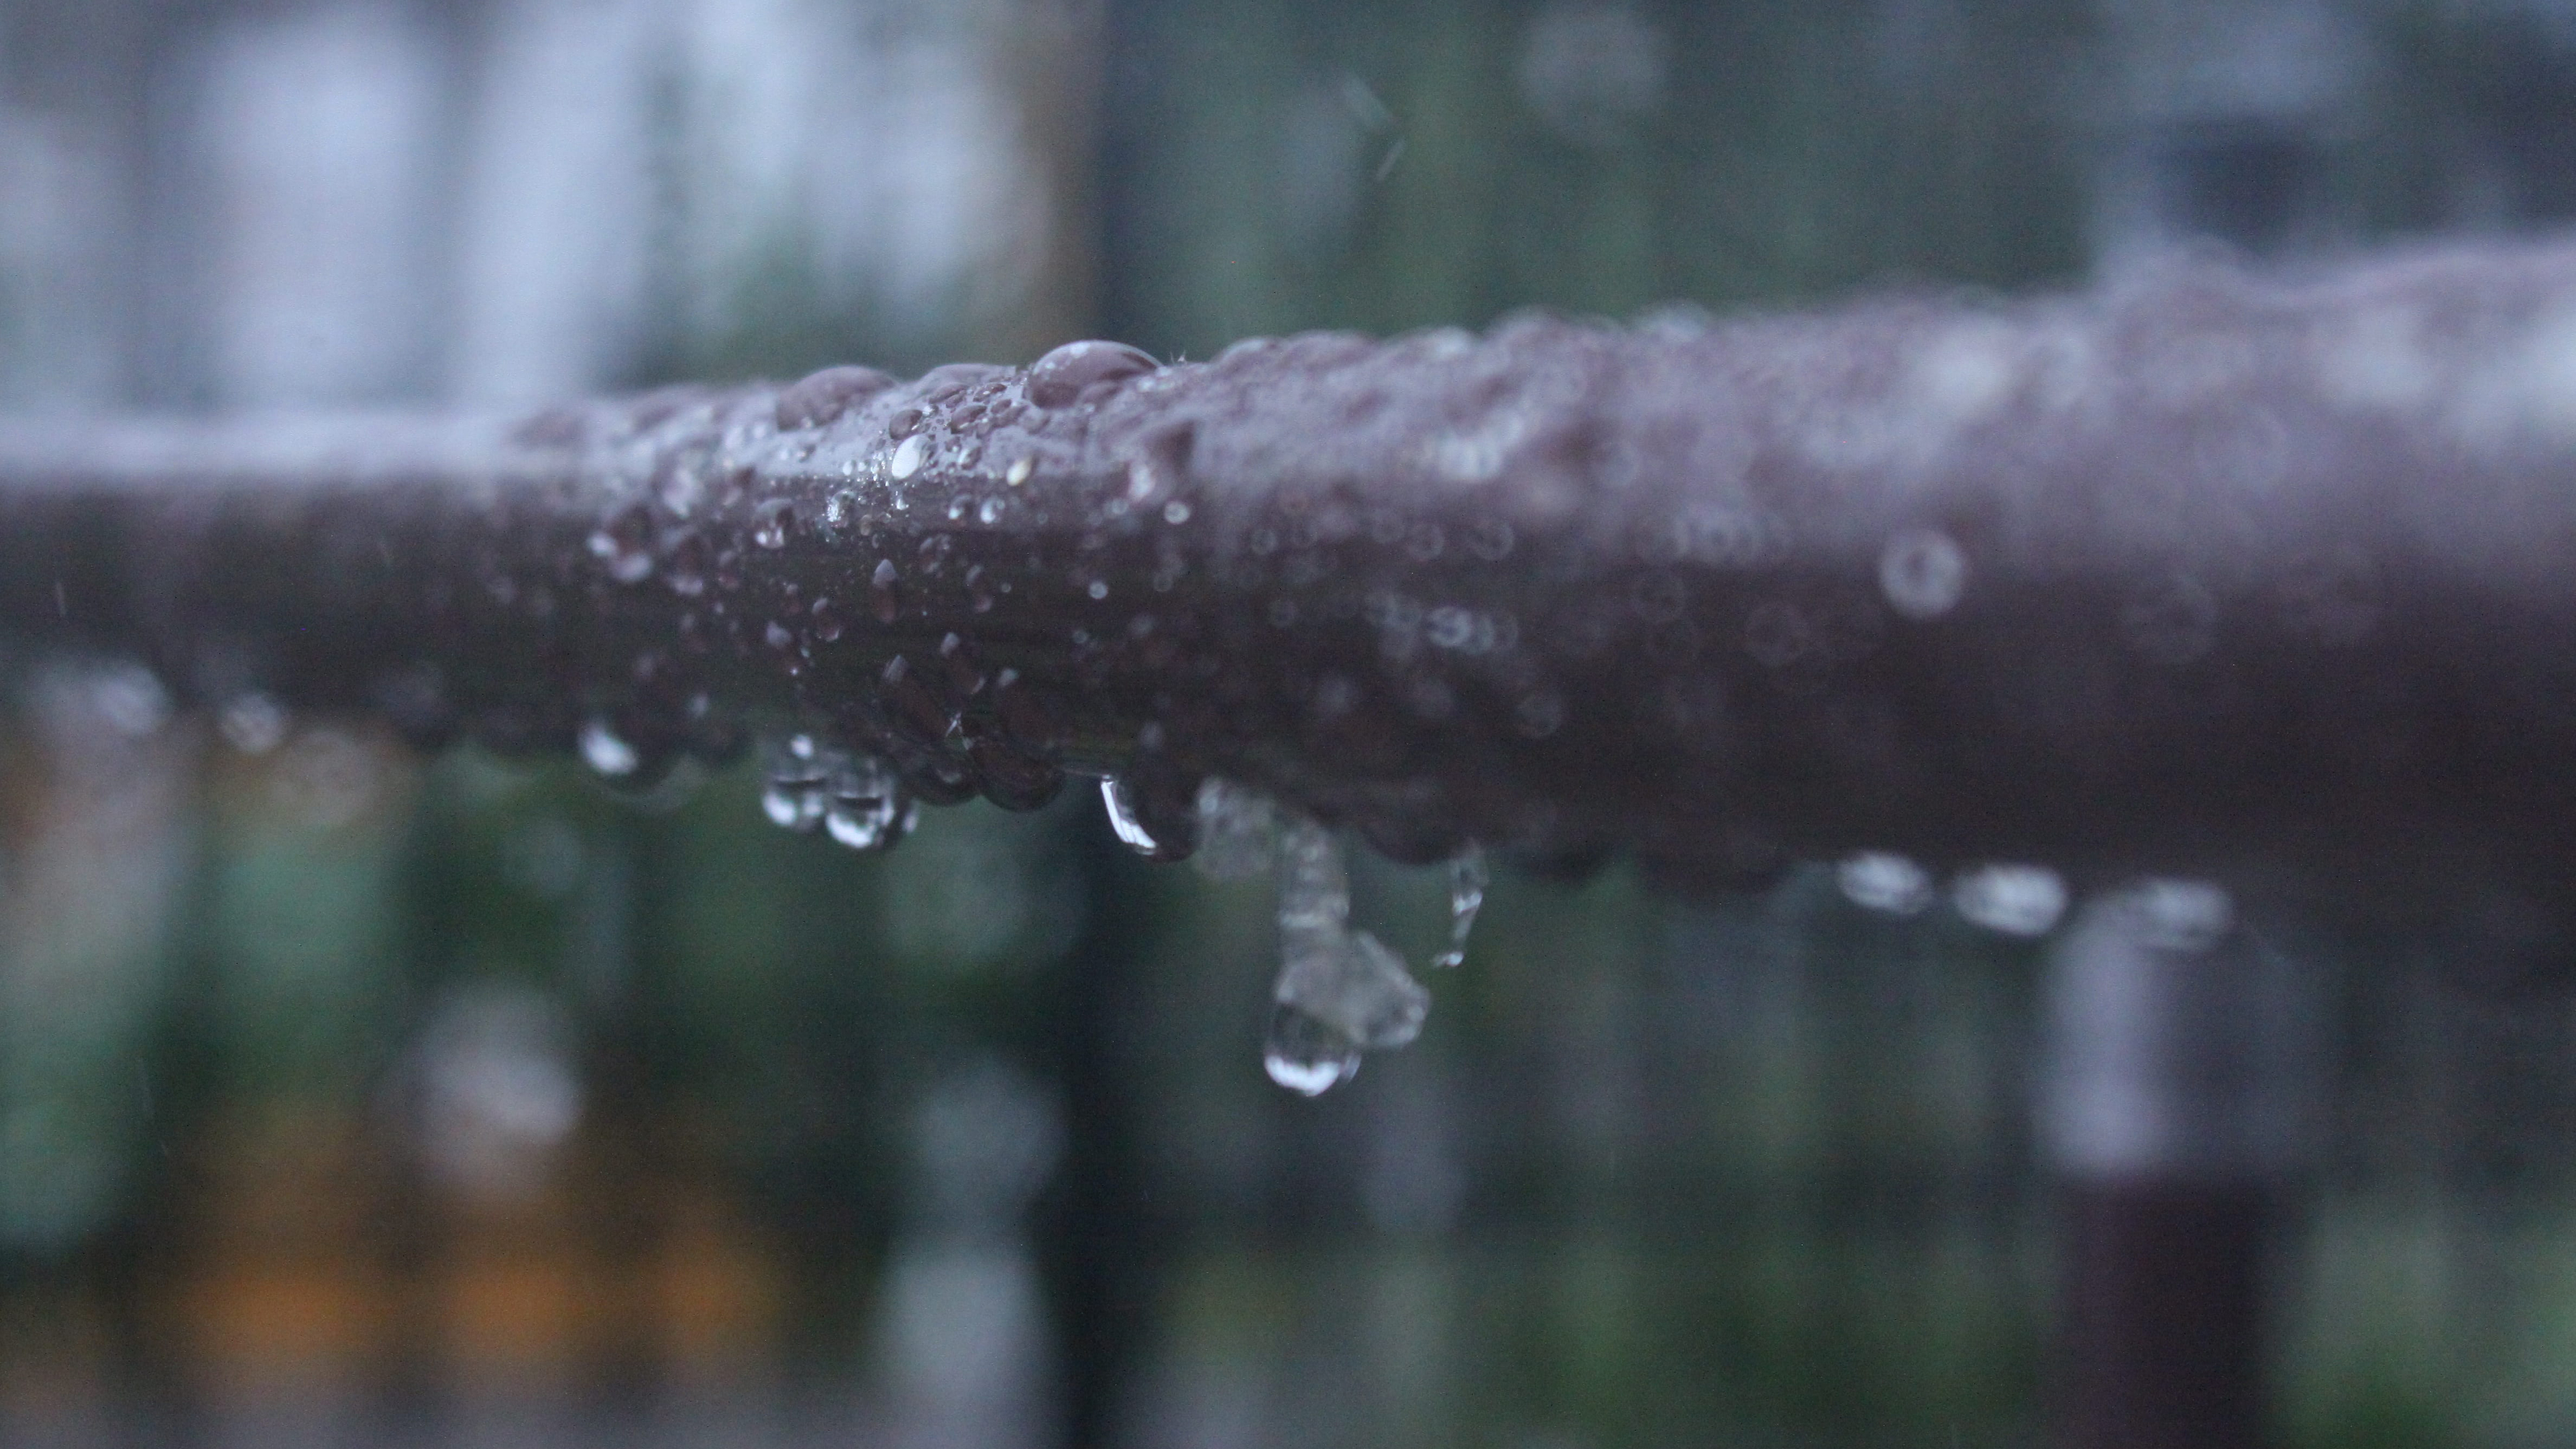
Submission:
[[[0,0],[0,407],[2066,286],[2563,224],[2571,134],[2568,0]],[[855,856],[747,773],[8,704],[0,1441],[2045,1436],[2063,1013],[1950,908],[1502,871],[1303,1101],[1270,887],[1092,792]],[[2576,1441],[2576,1011],[2439,957],[2300,949],[2282,1444]]]

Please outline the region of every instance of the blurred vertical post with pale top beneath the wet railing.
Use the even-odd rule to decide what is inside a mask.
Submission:
[[[2316,1026],[2308,977],[2210,884],[2105,895],[2053,949],[2058,1444],[2264,1441],[2267,1276],[2311,1137]]]

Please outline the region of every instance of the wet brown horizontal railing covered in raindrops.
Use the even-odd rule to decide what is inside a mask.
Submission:
[[[0,425],[0,627],[185,694],[1401,859],[2576,879],[2576,248],[1113,345],[536,420]],[[801,722],[801,724],[796,724]],[[2519,926],[2514,926],[2519,928]]]

